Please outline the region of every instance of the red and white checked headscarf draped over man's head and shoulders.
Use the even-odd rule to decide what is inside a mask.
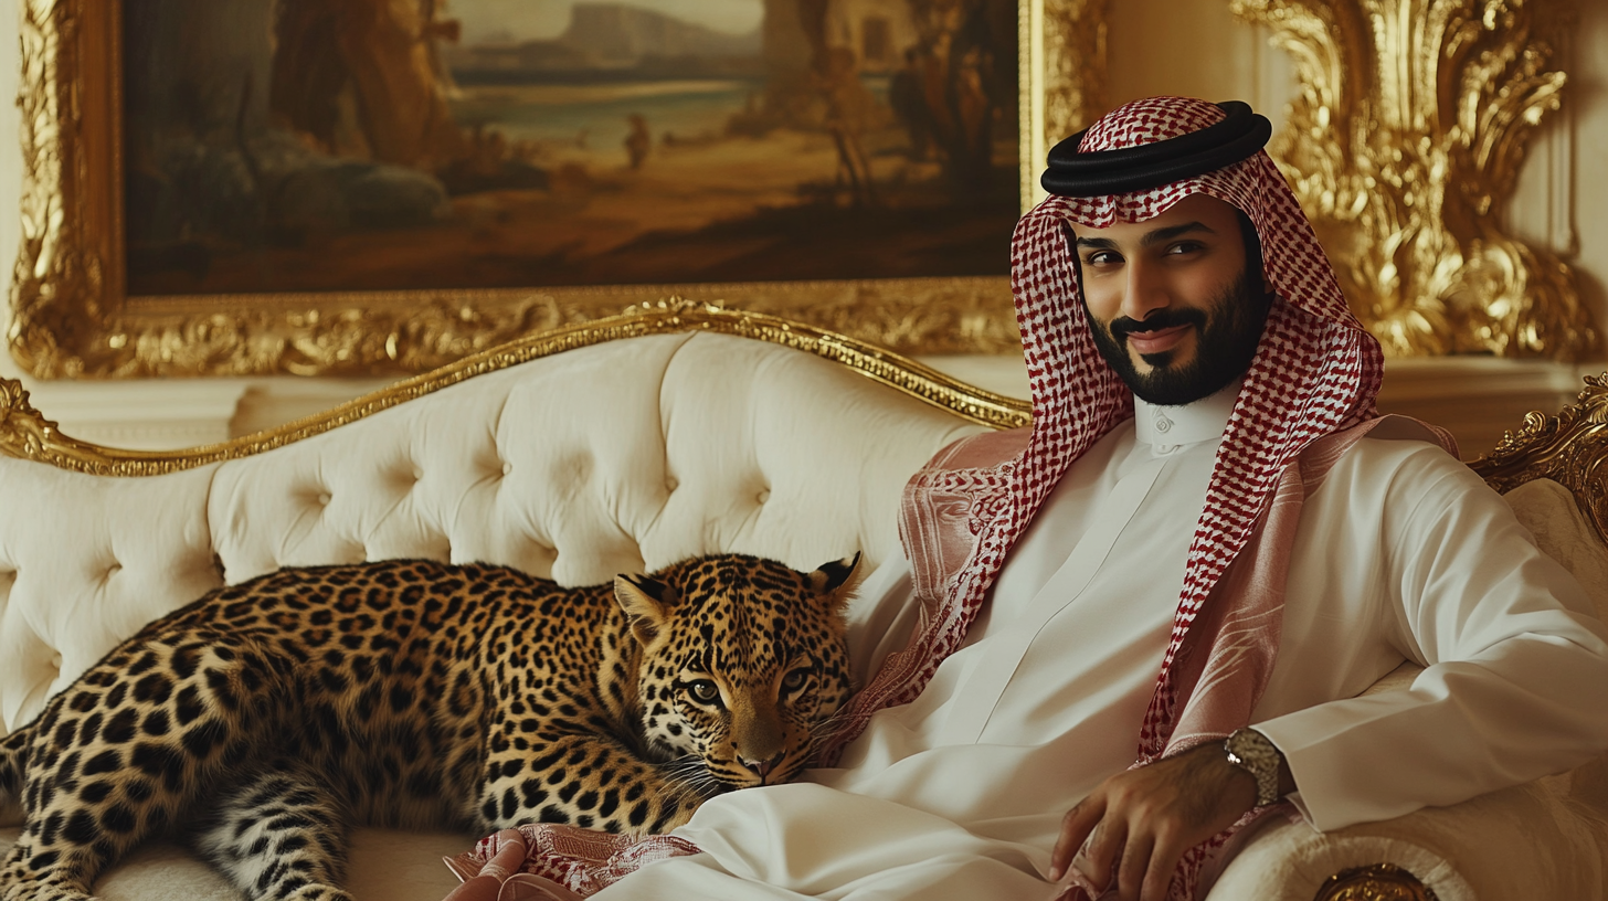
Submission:
[[[1224,116],[1201,100],[1138,100],[1095,122],[1081,151],[1167,140]],[[902,537],[923,623],[910,647],[889,655],[849,705],[822,753],[823,764],[835,761],[878,710],[920,695],[939,663],[960,647],[1007,553],[1066,468],[1134,413],[1130,391],[1093,344],[1061,224],[1142,222],[1195,193],[1249,216],[1277,298],[1217,450],[1137,758],[1148,763],[1246,726],[1277,652],[1283,566],[1301,500],[1378,422],[1375,396],[1383,375],[1378,341],[1348,309],[1328,257],[1264,151],[1158,188],[1052,196],[1016,225],[1011,282],[1032,389],[1031,431],[963,441],[912,479]],[[1230,571],[1241,552],[1246,560]],[[1208,603],[1212,597],[1222,603]],[[1224,634],[1241,642],[1251,636],[1254,647],[1249,653],[1243,644],[1235,653],[1214,653],[1216,637]],[[1225,838],[1185,858],[1172,899],[1193,898]],[[683,840],[653,837],[621,854],[656,859],[691,851]],[[621,862],[614,858],[605,869],[619,874]],[[542,859],[526,872],[553,874],[566,866]]]

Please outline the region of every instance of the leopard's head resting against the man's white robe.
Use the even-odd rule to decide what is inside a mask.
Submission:
[[[642,645],[648,751],[701,795],[788,782],[849,700],[844,608],[860,555],[799,573],[746,555],[619,576]]]

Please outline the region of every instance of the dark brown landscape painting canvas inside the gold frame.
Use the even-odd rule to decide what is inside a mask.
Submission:
[[[1003,275],[1016,35],[1016,0],[125,0],[125,290]]]

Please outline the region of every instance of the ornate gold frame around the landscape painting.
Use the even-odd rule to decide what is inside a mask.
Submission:
[[[1021,0],[1029,159],[1089,119],[1108,0]],[[1008,278],[878,278],[130,298],[119,0],[23,0],[23,248],[8,348],[35,378],[418,373],[669,296],[799,319],[907,354],[1018,348]]]

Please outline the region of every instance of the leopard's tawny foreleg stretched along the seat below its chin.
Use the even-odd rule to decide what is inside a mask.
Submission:
[[[479,795],[479,830],[563,822],[603,832],[653,835],[691,819],[703,803],[696,777],[651,764],[613,738],[508,724],[519,740],[494,734]]]

